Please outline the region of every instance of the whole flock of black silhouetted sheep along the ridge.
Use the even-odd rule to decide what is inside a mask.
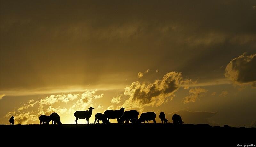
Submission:
[[[89,110],[86,111],[76,111],[74,113],[74,116],[76,117],[76,124],[77,124],[77,120],[78,119],[86,119],[87,124],[89,124],[89,118],[92,115],[92,110],[94,108],[90,107]],[[138,119],[139,116],[139,112],[137,110],[130,110],[130,111],[124,111],[125,108],[121,108],[119,110],[106,110],[104,112],[104,114],[102,113],[97,113],[95,114],[95,120],[94,123],[96,123],[96,121],[99,123],[99,121],[102,121],[102,123],[109,123],[109,119],[116,119],[117,123],[142,123],[142,122],[148,122],[150,120],[153,120],[154,123],[156,123],[156,113],[154,112],[146,112],[146,113],[142,113],[140,115],[140,118]],[[164,121],[164,123],[167,123],[167,119],[165,118],[165,114],[164,112],[161,112],[159,115],[159,118],[161,119],[162,123]],[[52,121],[52,124],[61,124],[60,121],[60,116],[57,113],[52,113],[50,116],[47,115],[41,115],[39,117],[40,120],[40,125],[43,124],[49,124]],[[172,120],[174,124],[182,124],[183,121],[180,117],[180,115],[174,114],[172,116]],[[12,116],[9,119],[9,122],[11,125],[14,125],[14,117]]]

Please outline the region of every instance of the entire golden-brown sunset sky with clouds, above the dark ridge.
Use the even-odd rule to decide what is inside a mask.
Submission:
[[[92,106],[255,127],[255,26],[255,0],[1,0],[0,124]]]

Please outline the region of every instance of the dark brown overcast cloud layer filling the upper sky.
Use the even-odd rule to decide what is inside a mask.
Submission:
[[[212,68],[255,49],[253,6],[253,0],[1,1],[0,87],[128,84],[129,75],[156,67],[220,76]]]

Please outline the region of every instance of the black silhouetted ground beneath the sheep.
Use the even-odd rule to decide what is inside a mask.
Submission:
[[[0,130],[3,140],[5,137],[22,140],[24,143],[48,140],[53,141],[52,145],[77,143],[98,146],[107,143],[111,146],[237,146],[256,143],[256,128],[212,127],[208,124],[0,125]]]

